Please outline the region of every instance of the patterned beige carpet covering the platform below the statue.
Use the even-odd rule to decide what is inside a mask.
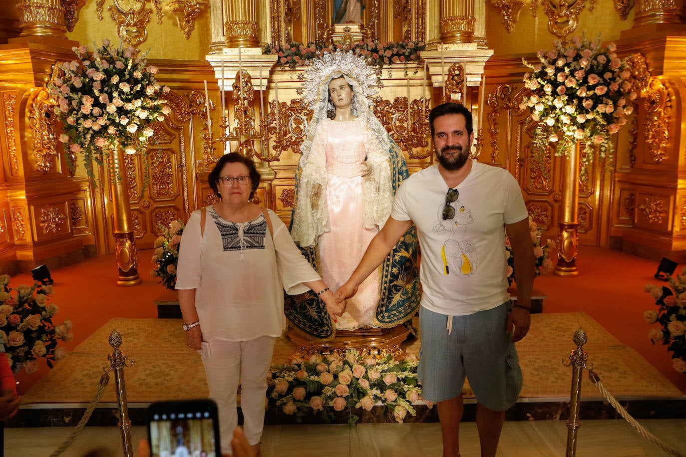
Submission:
[[[183,342],[181,321],[176,319],[110,320],[73,353],[38,381],[23,397],[23,403],[88,403],[97,390],[102,370],[110,366],[110,333],[117,330],[123,354],[134,365],[125,369],[128,402],[205,397],[207,384],[200,356]],[[524,375],[521,401],[569,399],[571,368],[563,365],[575,349],[571,338],[583,328],[588,336],[584,351],[589,354],[604,386],[617,399],[665,399],[682,396],[674,384],[654,369],[634,349],[621,345],[584,312],[532,315],[531,330],[518,343]],[[416,354],[420,343],[403,345]],[[274,349],[274,363],[285,363],[295,346],[286,337]],[[102,402],[116,402],[114,377]],[[466,388],[469,396],[469,388]],[[587,375],[582,382],[582,399],[600,399]]]

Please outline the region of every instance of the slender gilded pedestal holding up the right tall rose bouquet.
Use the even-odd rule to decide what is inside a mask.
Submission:
[[[563,158],[562,203],[560,204],[560,234],[558,235],[558,263],[553,274],[556,276],[576,276],[576,256],[578,254],[579,227],[579,158],[580,144],[577,142],[569,157]]]

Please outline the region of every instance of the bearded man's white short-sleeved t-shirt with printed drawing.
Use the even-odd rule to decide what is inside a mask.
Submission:
[[[412,221],[421,249],[421,306],[452,316],[490,310],[508,300],[504,225],[528,218],[517,180],[473,160],[456,187],[455,217],[444,221],[448,185],[438,165],[414,173],[395,195],[391,217]]]

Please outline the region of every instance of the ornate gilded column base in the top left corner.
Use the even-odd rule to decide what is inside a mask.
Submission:
[[[67,39],[64,9],[60,0],[21,0],[16,4],[19,12],[19,36],[51,36]]]

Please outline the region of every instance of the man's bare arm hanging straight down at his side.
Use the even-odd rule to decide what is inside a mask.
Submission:
[[[506,332],[514,333],[512,341],[519,341],[529,331],[531,325],[531,290],[534,286],[534,246],[529,231],[529,219],[506,224],[505,230],[512,245],[514,256],[514,275],[517,281],[517,308],[513,308],[508,318]],[[521,307],[528,308],[528,310]]]

